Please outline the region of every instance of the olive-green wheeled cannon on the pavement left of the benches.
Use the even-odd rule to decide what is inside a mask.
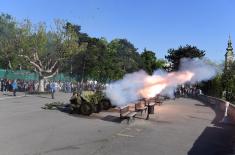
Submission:
[[[91,115],[102,110],[111,108],[111,102],[101,91],[82,91],[81,94],[75,94],[70,99],[70,113],[79,113],[82,115]]]

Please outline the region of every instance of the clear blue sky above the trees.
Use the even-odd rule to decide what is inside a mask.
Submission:
[[[126,38],[164,58],[170,48],[186,44],[224,61],[229,34],[235,46],[234,0],[0,0],[0,13],[17,21],[64,19],[91,37]]]

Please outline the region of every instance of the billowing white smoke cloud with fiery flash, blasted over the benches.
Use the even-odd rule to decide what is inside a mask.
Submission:
[[[184,76],[186,76],[185,72],[190,72],[193,76],[185,77],[184,79]],[[113,105],[122,106],[143,98],[140,90],[148,90],[148,88],[155,86],[159,87],[160,91],[151,92],[154,96],[161,94],[173,97],[174,91],[179,84],[195,84],[206,81],[213,78],[216,73],[216,68],[207,64],[204,60],[183,58],[178,72],[167,73],[163,70],[156,70],[152,76],[149,76],[145,71],[140,70],[126,74],[122,80],[111,83],[105,92]],[[146,79],[148,80],[147,84]]]

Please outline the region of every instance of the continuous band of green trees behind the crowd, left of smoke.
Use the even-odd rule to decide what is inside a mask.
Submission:
[[[40,90],[43,80],[59,71],[80,80],[108,82],[140,69],[151,74],[165,63],[152,51],[139,54],[127,39],[108,42],[93,38],[81,32],[81,26],[61,20],[48,30],[44,23],[18,23],[2,14],[0,32],[0,67],[17,69],[21,65],[37,72]]]

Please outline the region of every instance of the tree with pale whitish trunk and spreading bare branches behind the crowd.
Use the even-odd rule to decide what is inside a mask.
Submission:
[[[65,27],[65,22],[60,20],[55,21],[55,26],[54,31],[47,32],[45,24],[32,27],[30,21],[26,21],[18,38],[19,56],[39,74],[39,91],[44,91],[44,80],[56,75],[63,62],[86,48],[78,44],[73,27]]]

